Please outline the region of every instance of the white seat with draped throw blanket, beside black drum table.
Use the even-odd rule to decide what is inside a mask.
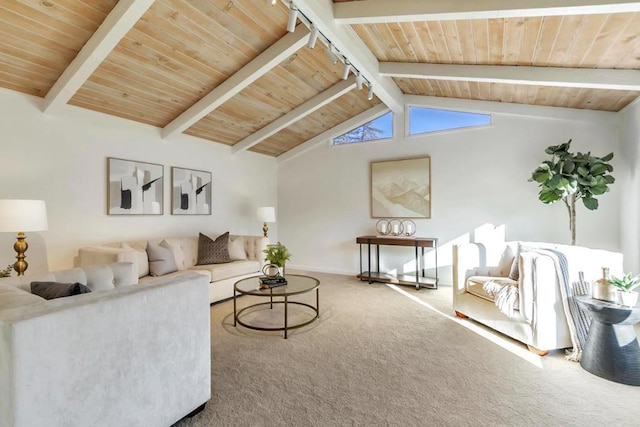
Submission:
[[[519,248],[520,247],[520,251]],[[601,277],[601,267],[623,271],[622,254],[580,246],[537,242],[466,243],[453,247],[453,309],[527,345],[544,355],[548,350],[572,346],[556,267],[550,256],[524,248],[554,249],[567,254],[569,269],[581,271],[588,282]],[[517,257],[517,258],[516,258]],[[519,277],[509,279],[513,260]],[[512,284],[519,301],[511,315],[501,312],[494,297],[483,289],[487,281]]]

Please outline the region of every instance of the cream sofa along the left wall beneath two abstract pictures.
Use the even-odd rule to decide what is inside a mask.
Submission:
[[[211,238],[216,238],[213,234]],[[133,242],[108,243],[100,246],[81,248],[75,261],[77,266],[132,262],[138,271],[140,283],[153,280],[149,275],[147,243],[160,244],[162,240],[171,247],[178,271],[168,277],[185,271],[195,271],[209,280],[209,302],[214,303],[233,297],[233,285],[245,277],[260,274],[264,264],[264,253],[269,239],[262,236],[231,235],[229,252],[231,262],[221,264],[196,265],[198,260],[198,236],[150,239]],[[163,276],[164,277],[164,276]]]

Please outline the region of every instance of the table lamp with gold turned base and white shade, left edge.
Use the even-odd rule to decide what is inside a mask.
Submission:
[[[44,200],[0,200],[0,232],[18,233],[13,249],[17,252],[13,269],[23,276],[29,265],[24,260],[29,245],[25,231],[44,231],[47,226],[47,207]]]

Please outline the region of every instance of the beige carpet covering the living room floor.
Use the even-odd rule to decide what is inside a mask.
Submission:
[[[640,388],[591,375],[560,351],[539,358],[481,335],[451,316],[450,287],[310,274],[321,281],[321,317],[288,340],[234,328],[231,301],[211,307],[213,396],[176,427],[640,425]]]

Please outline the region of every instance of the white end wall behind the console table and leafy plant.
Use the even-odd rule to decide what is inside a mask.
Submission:
[[[414,220],[416,236],[439,239],[443,283],[450,283],[451,243],[480,239],[486,224],[497,226],[493,233],[506,233],[508,240],[570,243],[564,205],[542,204],[537,199],[538,187],[527,180],[548,158],[544,154],[547,146],[570,138],[573,150],[617,154],[619,120],[612,114],[593,112],[531,111],[542,111],[547,117],[496,113],[490,127],[348,146],[319,144],[281,162],[279,237],[293,253],[291,266],[356,273],[355,239],[375,234],[377,221],[369,212],[370,162],[423,155],[431,156],[432,162],[432,217]],[[600,198],[597,211],[578,208],[578,245],[620,249],[620,190],[614,185]],[[383,271],[414,268],[411,249],[383,248],[382,252],[391,255],[383,256]],[[432,262],[427,259],[428,264]]]

